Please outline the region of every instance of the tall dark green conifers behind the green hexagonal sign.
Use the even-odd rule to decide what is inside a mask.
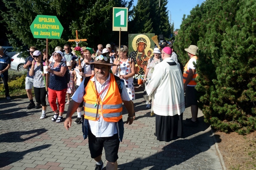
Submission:
[[[29,26],[37,15],[57,16],[64,30],[61,39],[49,39],[49,49],[63,46],[69,39],[87,38],[90,47],[97,44],[118,42],[118,33],[112,31],[112,7],[125,7],[125,0],[3,0],[7,11],[3,11],[9,42],[19,50],[23,47],[45,48],[44,39],[33,38]],[[85,45],[87,44],[85,43]]]

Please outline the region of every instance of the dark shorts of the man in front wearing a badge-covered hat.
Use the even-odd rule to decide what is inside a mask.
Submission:
[[[111,137],[96,138],[91,130],[88,129],[88,143],[91,158],[96,158],[102,154],[104,147],[106,160],[114,163],[118,159],[119,143],[118,134]]]

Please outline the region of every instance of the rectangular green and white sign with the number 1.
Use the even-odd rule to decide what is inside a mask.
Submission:
[[[113,7],[113,31],[127,31],[128,8]]]

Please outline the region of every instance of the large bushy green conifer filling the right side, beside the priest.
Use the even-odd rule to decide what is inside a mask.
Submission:
[[[183,64],[199,47],[196,89],[205,122],[223,132],[256,130],[256,2],[206,0],[181,24],[174,48]]]

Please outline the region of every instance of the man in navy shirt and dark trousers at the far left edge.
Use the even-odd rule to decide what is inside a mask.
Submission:
[[[10,100],[9,86],[8,86],[8,69],[11,68],[11,59],[5,53],[3,53],[3,47],[0,46],[0,75],[3,80],[3,86],[5,89],[5,97]]]

